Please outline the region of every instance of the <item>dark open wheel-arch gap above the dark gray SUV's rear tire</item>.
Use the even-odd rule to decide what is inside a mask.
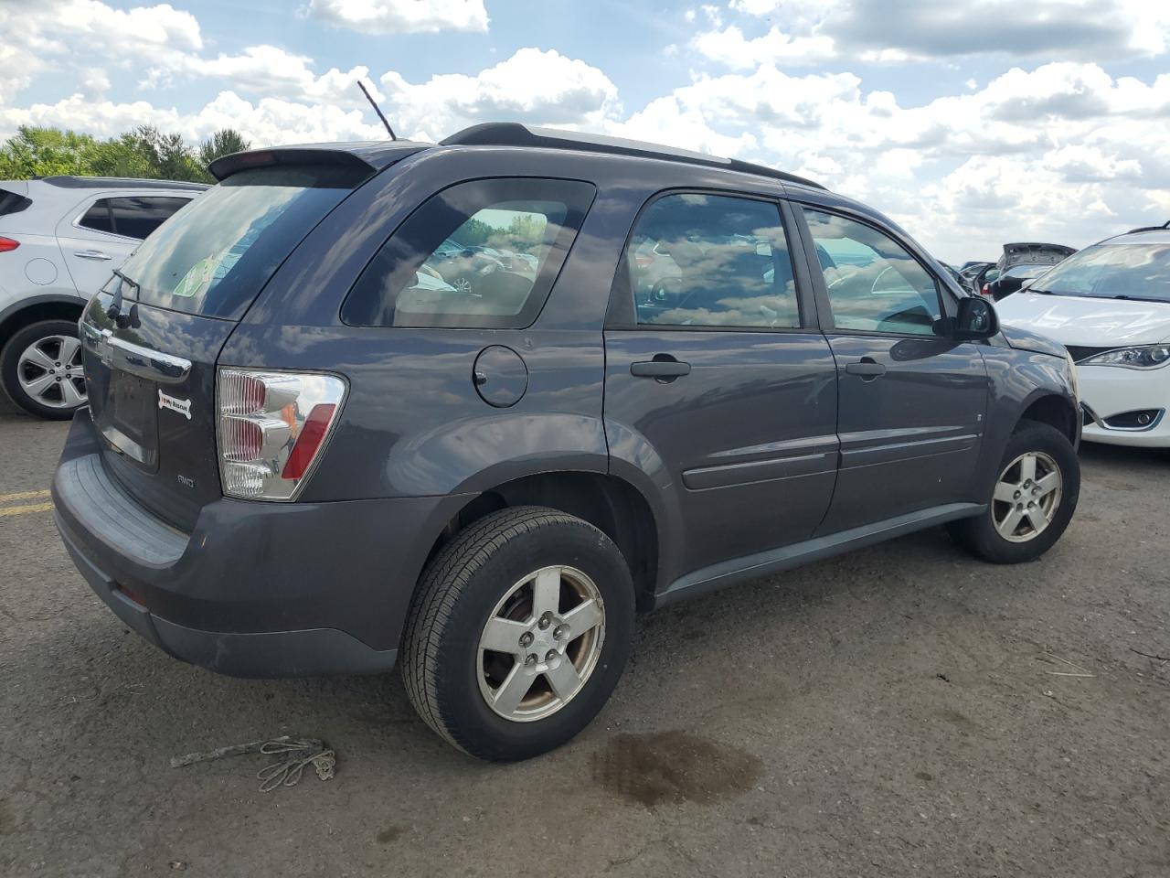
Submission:
[[[614,542],[629,567],[639,608],[651,605],[659,570],[656,516],[638,488],[605,473],[535,473],[481,492],[441,529],[426,563],[468,524],[500,509],[521,506],[556,509],[593,524]]]

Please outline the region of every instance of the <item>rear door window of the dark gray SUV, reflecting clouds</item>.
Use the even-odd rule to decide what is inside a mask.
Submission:
[[[639,218],[626,260],[639,323],[800,325],[792,262],[772,203],[666,196]]]

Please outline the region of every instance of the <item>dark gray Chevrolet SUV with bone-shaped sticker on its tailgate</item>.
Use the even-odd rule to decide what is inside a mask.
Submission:
[[[1075,509],[1066,351],[817,184],[511,124],[212,172],[87,308],[53,491],[174,657],[400,661],[435,732],[523,759],[635,610],[935,524],[1027,561]],[[454,284],[448,241],[497,255]]]

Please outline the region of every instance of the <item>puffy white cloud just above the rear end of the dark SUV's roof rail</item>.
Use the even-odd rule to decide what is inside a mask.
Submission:
[[[420,139],[498,119],[600,128],[619,109],[618,89],[599,69],[536,48],[519,49],[475,76],[443,74],[414,84],[392,71],[380,82],[394,130]]]

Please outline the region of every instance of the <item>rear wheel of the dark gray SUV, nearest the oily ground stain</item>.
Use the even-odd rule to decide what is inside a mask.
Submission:
[[[629,569],[605,534],[555,509],[502,509],[424,571],[402,643],[406,693],[473,756],[529,759],[601,709],[633,625]]]

